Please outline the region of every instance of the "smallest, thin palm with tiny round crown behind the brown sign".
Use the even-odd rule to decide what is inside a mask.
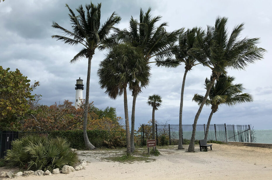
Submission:
[[[148,97],[147,104],[152,106],[152,139],[156,139],[156,134],[155,134],[155,110],[158,110],[158,107],[161,106],[162,100],[161,96],[158,94],[153,94],[152,96]],[[156,148],[156,147],[155,147]]]

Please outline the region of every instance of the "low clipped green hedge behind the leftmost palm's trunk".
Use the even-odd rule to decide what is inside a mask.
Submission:
[[[122,131],[87,130],[87,135],[95,147],[126,147],[126,136]],[[53,131],[49,137],[64,137],[70,142],[72,148],[86,149],[83,130]]]

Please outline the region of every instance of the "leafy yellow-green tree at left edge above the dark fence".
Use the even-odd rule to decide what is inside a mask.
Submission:
[[[20,70],[9,71],[0,66],[0,127],[1,129],[16,128],[23,119],[30,105],[28,100],[34,98],[31,92],[39,85],[32,86],[27,76]]]

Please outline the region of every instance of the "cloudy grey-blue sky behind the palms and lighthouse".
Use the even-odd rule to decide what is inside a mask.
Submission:
[[[161,15],[162,22],[168,22],[167,31],[182,27],[214,26],[217,16],[228,17],[228,30],[242,22],[245,29],[242,37],[261,38],[258,47],[267,50],[264,59],[249,65],[245,70],[228,70],[228,75],[235,76],[235,83],[242,83],[245,92],[251,93],[254,102],[227,107],[222,105],[213,115],[211,123],[251,124],[254,129],[272,129],[272,62],[271,29],[272,1],[92,1],[102,3],[101,23],[116,11],[122,20],[116,27],[128,27],[130,17],[139,19],[140,8],[146,11],[152,8],[152,16]],[[86,84],[87,59],[70,64],[69,61],[81,50],[81,46],[70,46],[51,38],[61,35],[61,31],[51,27],[52,21],[66,29],[71,29],[67,3],[75,11],[80,4],[90,1],[57,0],[6,0],[0,3],[0,66],[18,68],[31,80],[39,81],[40,86],[34,93],[42,94],[41,104],[52,105],[63,100],[75,101],[75,83],[78,77]],[[235,5],[234,5],[235,4]],[[105,58],[106,51],[95,51],[92,58],[90,101],[104,109],[116,107],[117,115],[124,118],[123,97],[110,99],[98,84],[97,69]],[[180,91],[184,66],[161,68],[152,65],[152,77],[149,87],[143,89],[137,98],[135,126],[152,119],[152,107],[147,105],[147,98],[152,94],[162,97],[162,105],[155,112],[158,122],[177,124],[179,120]],[[183,124],[192,124],[198,105],[192,102],[195,93],[204,95],[204,80],[210,77],[211,70],[201,65],[187,73],[184,92]],[[86,85],[85,85],[86,86]],[[132,96],[128,93],[128,110],[131,117]],[[83,98],[85,90],[83,91]],[[210,107],[203,107],[198,123],[207,123]],[[130,118],[129,118],[130,119]]]

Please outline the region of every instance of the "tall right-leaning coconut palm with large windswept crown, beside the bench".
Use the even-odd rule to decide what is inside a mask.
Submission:
[[[264,56],[265,50],[256,46],[259,43],[259,38],[239,39],[241,31],[244,29],[243,23],[234,27],[228,36],[227,21],[226,17],[217,17],[215,26],[208,26],[206,35],[197,34],[197,47],[191,48],[188,52],[197,61],[212,70],[211,82],[207,86],[206,94],[194,118],[189,152],[194,151],[197,120],[214,81],[218,80],[221,74],[226,74],[228,68],[245,69],[249,63],[254,63]]]

